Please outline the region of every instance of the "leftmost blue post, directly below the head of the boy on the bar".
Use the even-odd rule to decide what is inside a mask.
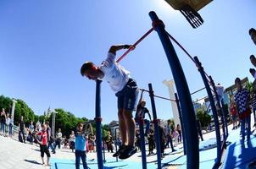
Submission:
[[[101,80],[96,81],[96,104],[95,104],[95,123],[96,123],[96,146],[97,146],[97,168],[103,169],[103,147],[102,147],[102,131],[101,131]]]

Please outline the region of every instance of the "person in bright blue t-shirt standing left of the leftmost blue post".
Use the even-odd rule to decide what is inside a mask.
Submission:
[[[82,161],[84,169],[87,169],[86,129],[83,123],[78,123],[75,131],[75,169],[80,169],[80,161]]]

